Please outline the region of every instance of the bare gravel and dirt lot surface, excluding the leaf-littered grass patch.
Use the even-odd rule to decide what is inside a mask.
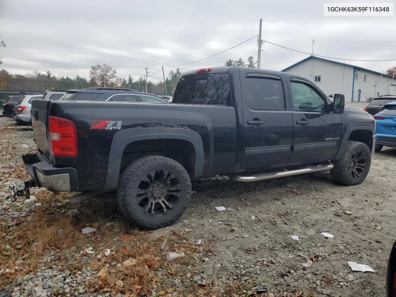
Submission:
[[[34,148],[32,136],[29,127],[0,118],[0,215],[5,225],[29,216],[38,207],[37,201],[25,204],[23,200],[10,207],[4,199],[8,185],[21,184],[27,177],[20,155]],[[185,215],[175,225],[145,236],[158,238],[175,229],[186,232],[191,242],[212,245],[196,266],[172,276],[169,286],[179,293],[193,284],[206,288],[206,295],[217,296],[246,296],[259,293],[260,288],[267,288],[264,296],[385,296],[387,258],[396,239],[395,165],[396,150],[383,149],[372,160],[366,181],[354,187],[335,185],[329,173],[243,184],[223,177],[198,181]],[[38,189],[32,195],[51,197]],[[114,195],[103,199],[112,203]],[[87,202],[80,208],[91,205]],[[216,206],[228,209],[217,211]],[[107,214],[107,208],[103,213]],[[319,227],[329,229],[334,238],[320,235]],[[114,242],[119,231],[107,236]],[[1,246],[0,253],[8,248]],[[74,255],[80,251],[75,249],[61,252],[73,255],[67,259],[69,263],[79,261]],[[89,268],[65,271],[59,259],[57,253],[46,253],[41,263],[50,262],[49,266],[42,264],[42,269],[21,276],[4,289],[14,289],[14,297],[99,296],[98,291],[86,290],[87,280],[97,278],[97,272]],[[367,264],[375,273],[351,272],[347,261]],[[3,272],[0,269],[0,278]],[[157,275],[166,277],[161,271]],[[118,292],[100,294],[124,296]]]

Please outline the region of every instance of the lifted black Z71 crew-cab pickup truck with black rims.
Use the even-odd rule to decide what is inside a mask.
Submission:
[[[33,100],[38,150],[23,156],[30,186],[117,191],[145,228],[176,221],[191,180],[261,181],[331,169],[357,185],[367,176],[375,120],[331,101],[302,76],[242,67],[184,73],[171,104]]]

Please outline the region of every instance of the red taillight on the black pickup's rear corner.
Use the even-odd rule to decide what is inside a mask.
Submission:
[[[72,120],[49,116],[48,132],[53,156],[76,157],[78,155],[77,128]]]

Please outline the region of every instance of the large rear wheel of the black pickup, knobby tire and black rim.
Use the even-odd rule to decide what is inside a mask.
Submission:
[[[186,169],[164,156],[145,156],[132,162],[118,182],[117,201],[122,213],[142,228],[173,224],[191,200]]]

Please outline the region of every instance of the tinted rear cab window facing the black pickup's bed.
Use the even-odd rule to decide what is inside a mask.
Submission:
[[[228,73],[191,74],[182,76],[173,95],[173,103],[229,105]]]

